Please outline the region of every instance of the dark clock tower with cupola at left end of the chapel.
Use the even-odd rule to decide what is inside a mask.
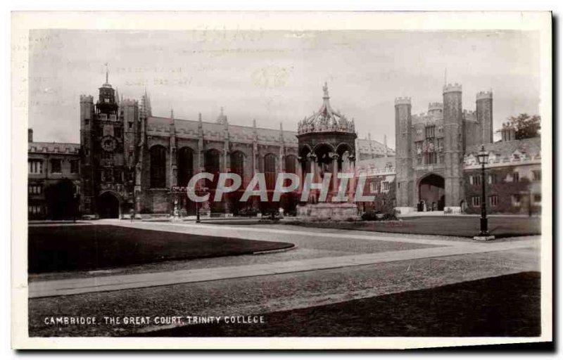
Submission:
[[[134,207],[137,136],[129,133],[137,130],[137,101],[120,101],[106,71],[106,82],[93,102],[91,96],[80,97],[81,212],[120,217]]]

